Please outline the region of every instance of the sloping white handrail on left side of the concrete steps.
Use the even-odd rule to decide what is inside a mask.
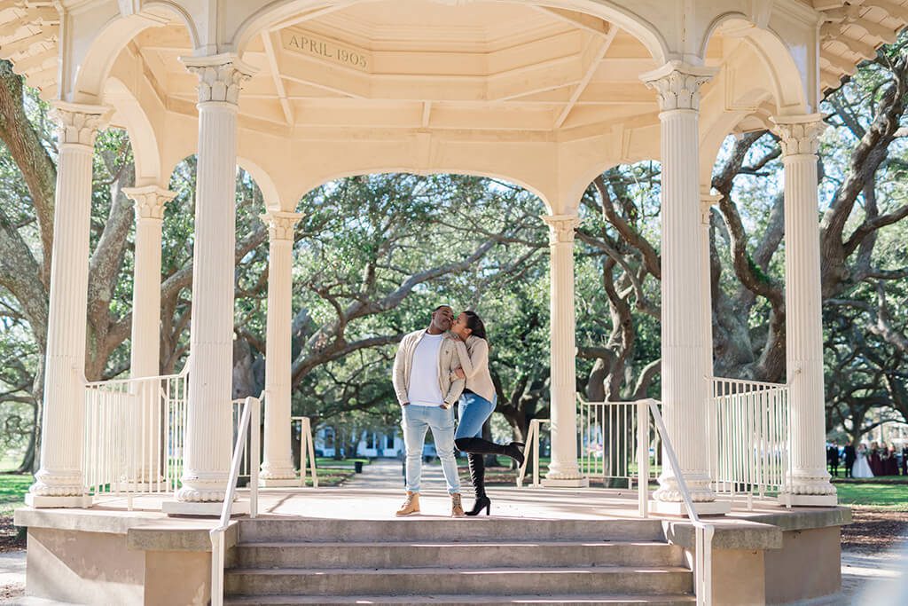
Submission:
[[[259,513],[259,452],[262,433],[262,397],[249,396],[243,401],[242,413],[236,428],[236,442],[233,445],[233,458],[230,467],[230,478],[224,492],[221,508],[221,520],[212,528],[212,606],[222,606],[224,601],[224,534],[230,522],[231,506],[236,498],[236,484],[240,478],[240,467],[247,459],[250,470],[249,482],[249,517]],[[247,448],[248,446],[248,448]]]

